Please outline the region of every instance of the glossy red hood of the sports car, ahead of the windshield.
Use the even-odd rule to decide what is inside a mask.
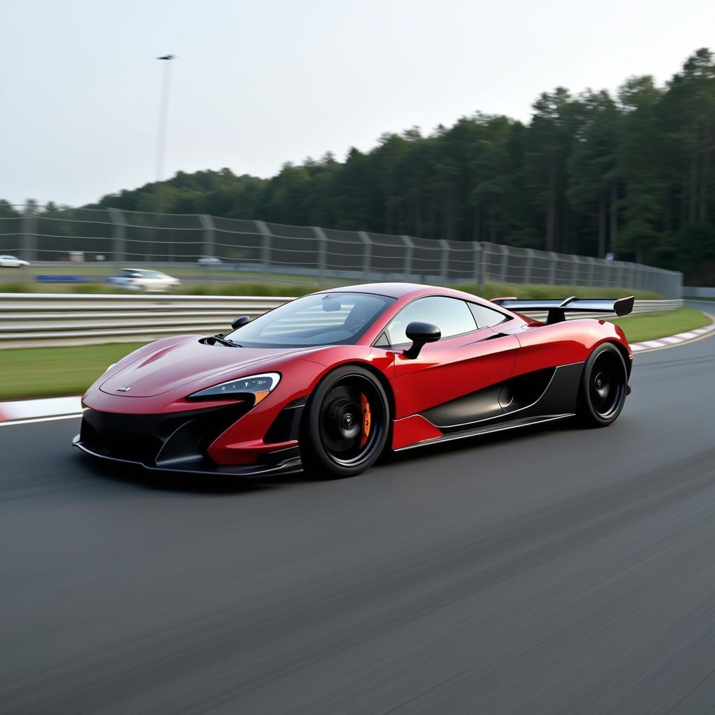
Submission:
[[[315,348],[226,347],[205,345],[197,338],[157,347],[119,370],[112,370],[99,385],[103,393],[127,398],[162,395],[192,384],[192,391],[230,380],[234,375],[264,372],[286,355],[312,352]],[[196,383],[195,385],[193,383]],[[122,390],[120,388],[129,388]]]

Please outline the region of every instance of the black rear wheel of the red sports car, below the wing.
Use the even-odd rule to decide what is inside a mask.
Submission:
[[[628,373],[621,351],[610,342],[596,347],[586,360],[578,388],[576,418],[584,427],[615,422],[628,395]]]

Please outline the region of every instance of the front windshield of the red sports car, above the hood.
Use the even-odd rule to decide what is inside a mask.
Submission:
[[[306,295],[257,317],[225,337],[243,347],[349,345],[394,301],[372,293]]]

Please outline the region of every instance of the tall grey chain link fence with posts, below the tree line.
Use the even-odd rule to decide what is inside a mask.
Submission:
[[[197,265],[250,280],[326,282],[543,283],[653,290],[681,297],[682,274],[493,243],[286,226],[209,215],[60,209],[0,218],[0,253],[32,263],[117,267]]]

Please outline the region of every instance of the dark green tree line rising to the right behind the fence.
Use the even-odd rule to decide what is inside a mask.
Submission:
[[[663,86],[630,77],[615,95],[557,87],[528,123],[477,113],[270,179],[178,172],[89,207],[614,252],[712,282],[715,58],[699,49]]]

